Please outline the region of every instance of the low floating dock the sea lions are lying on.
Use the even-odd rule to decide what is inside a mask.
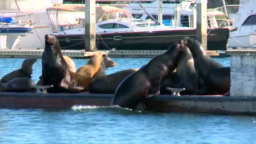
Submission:
[[[112,94],[0,93],[0,108],[70,109],[75,105],[109,106]],[[196,112],[221,115],[256,115],[254,96],[169,96],[146,98],[137,110]]]

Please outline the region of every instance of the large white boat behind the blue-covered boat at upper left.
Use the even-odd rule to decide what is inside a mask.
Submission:
[[[14,48],[44,48],[44,35],[51,32],[45,9],[53,6],[51,2],[52,0],[8,0],[9,4],[7,6],[11,5],[9,9],[12,9],[12,11],[30,13],[29,15],[19,16],[14,19],[16,21],[30,20],[33,22],[34,27],[26,37],[22,37],[22,40]]]

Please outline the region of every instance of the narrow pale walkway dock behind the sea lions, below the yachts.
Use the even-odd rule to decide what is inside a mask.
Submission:
[[[109,51],[94,51],[85,52],[84,50],[62,50],[62,53],[72,58],[88,58],[94,53],[103,52],[104,55],[110,57],[142,57],[152,58],[165,51],[157,50],[109,50]],[[256,49],[227,49],[223,51],[206,51],[211,57],[224,57],[232,55],[256,55]],[[13,50],[0,50],[0,58],[41,58],[43,49],[13,49]]]

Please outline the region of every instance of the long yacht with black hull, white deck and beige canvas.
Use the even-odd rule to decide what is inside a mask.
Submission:
[[[84,16],[76,15],[77,21],[58,25],[56,13],[63,11],[83,12],[84,5],[58,5],[47,8],[52,24],[52,32],[60,43],[61,49],[81,50],[84,42]],[[117,14],[118,13],[118,14]],[[53,15],[55,14],[55,15]],[[108,18],[108,19],[106,19]],[[82,21],[83,20],[83,21]],[[196,29],[189,27],[156,25],[153,21],[137,21],[125,9],[112,6],[96,7],[96,49],[97,50],[167,50],[169,46],[184,36],[196,37]],[[229,29],[208,29],[208,50],[223,51],[227,49]]]

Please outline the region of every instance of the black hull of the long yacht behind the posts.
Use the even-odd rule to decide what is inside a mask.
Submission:
[[[55,35],[61,49],[85,49],[83,34]],[[116,32],[96,34],[97,50],[167,50],[169,46],[183,37],[196,38],[196,29],[155,32]],[[207,45],[209,51],[226,51],[229,29],[208,29]]]

